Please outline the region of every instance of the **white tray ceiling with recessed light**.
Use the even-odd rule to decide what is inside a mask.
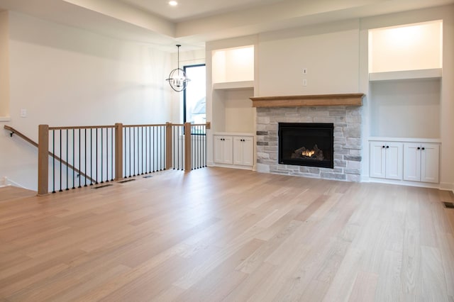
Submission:
[[[375,16],[454,0],[0,0],[0,9],[149,43],[175,51],[206,41],[349,18]],[[184,51],[182,49],[182,51]]]

